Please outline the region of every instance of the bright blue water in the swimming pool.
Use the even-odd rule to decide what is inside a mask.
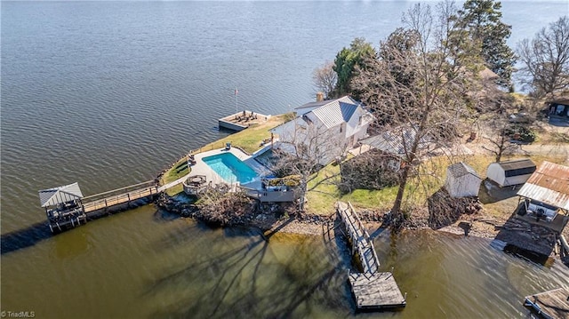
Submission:
[[[257,173],[249,165],[241,162],[231,153],[221,153],[216,156],[204,157],[204,163],[218,173],[228,183],[247,183],[257,177]]]

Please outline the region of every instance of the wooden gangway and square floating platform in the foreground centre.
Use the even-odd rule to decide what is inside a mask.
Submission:
[[[352,254],[356,253],[361,273],[349,273],[349,284],[358,310],[405,307],[405,297],[391,272],[379,272],[380,260],[373,241],[351,203],[336,203],[336,211],[348,233]]]

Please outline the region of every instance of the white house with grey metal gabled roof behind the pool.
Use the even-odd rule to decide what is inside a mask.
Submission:
[[[345,96],[336,100],[317,100],[296,108],[293,121],[271,132],[278,135],[279,148],[300,155],[317,155],[321,164],[329,163],[367,136],[373,116],[362,103]]]

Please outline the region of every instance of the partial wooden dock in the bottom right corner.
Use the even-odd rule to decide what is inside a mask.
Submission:
[[[569,318],[569,291],[558,288],[525,297],[524,305],[532,307],[546,319]]]

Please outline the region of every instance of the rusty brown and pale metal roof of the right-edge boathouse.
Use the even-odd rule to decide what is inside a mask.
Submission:
[[[569,211],[569,167],[541,163],[517,195]]]

